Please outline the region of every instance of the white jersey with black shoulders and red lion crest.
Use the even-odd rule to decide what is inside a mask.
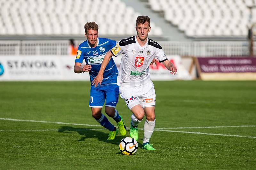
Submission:
[[[111,49],[111,53],[114,56],[122,53],[117,85],[126,87],[140,86],[151,81],[149,65],[154,57],[159,62],[168,60],[157,42],[147,38],[147,43],[141,47],[136,36],[122,39]]]

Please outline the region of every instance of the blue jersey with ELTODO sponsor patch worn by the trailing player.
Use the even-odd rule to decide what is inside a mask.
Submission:
[[[104,56],[109,50],[111,50],[115,46],[116,41],[105,38],[98,38],[98,44],[95,48],[92,48],[88,44],[87,40],[78,46],[76,62],[83,63],[83,60],[85,60],[86,64],[92,66],[92,69],[89,72],[91,83],[100,71],[100,66]],[[98,84],[98,86],[116,84],[117,74],[118,70],[116,64],[114,60],[111,58],[108,62],[107,67],[104,70],[101,85]]]

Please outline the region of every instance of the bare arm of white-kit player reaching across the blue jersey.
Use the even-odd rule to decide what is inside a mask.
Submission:
[[[95,87],[98,86],[98,83],[101,84],[101,82],[103,80],[104,70],[107,67],[108,62],[109,62],[109,60],[111,59],[112,56],[113,56],[113,54],[110,51],[108,51],[108,53],[106,53],[106,55],[105,55],[105,57],[104,57],[104,59],[101,63],[100,71],[99,71],[98,75],[92,81],[92,85],[95,84]]]

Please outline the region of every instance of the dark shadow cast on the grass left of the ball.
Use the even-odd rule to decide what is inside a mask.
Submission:
[[[58,132],[61,133],[70,133],[71,131],[77,132],[79,135],[82,137],[78,139],[78,141],[85,141],[87,138],[98,138],[98,140],[110,143],[110,144],[115,144],[119,145],[120,141],[127,137],[127,136],[121,136],[120,133],[118,132],[117,136],[115,137],[114,140],[107,140],[108,138],[108,130],[104,129],[86,129],[86,128],[74,128],[71,126],[61,126],[58,129]],[[129,134],[129,132],[126,133],[126,135]],[[138,142],[139,145],[142,145]]]

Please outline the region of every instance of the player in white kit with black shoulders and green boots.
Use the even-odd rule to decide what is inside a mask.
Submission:
[[[105,55],[100,71],[92,81],[97,87],[103,79],[103,72],[112,56],[122,53],[122,60],[117,76],[117,85],[120,86],[120,97],[132,111],[130,136],[138,140],[138,124],[146,115],[144,124],[143,149],[156,150],[149,143],[155,128],[156,94],[154,84],[150,79],[149,65],[154,59],[162,62],[164,66],[175,75],[176,67],[167,59],[162,47],[152,39],[148,39],[150,32],[150,18],[139,16],[136,19],[137,35],[122,39]],[[93,85],[92,84],[92,85]]]

